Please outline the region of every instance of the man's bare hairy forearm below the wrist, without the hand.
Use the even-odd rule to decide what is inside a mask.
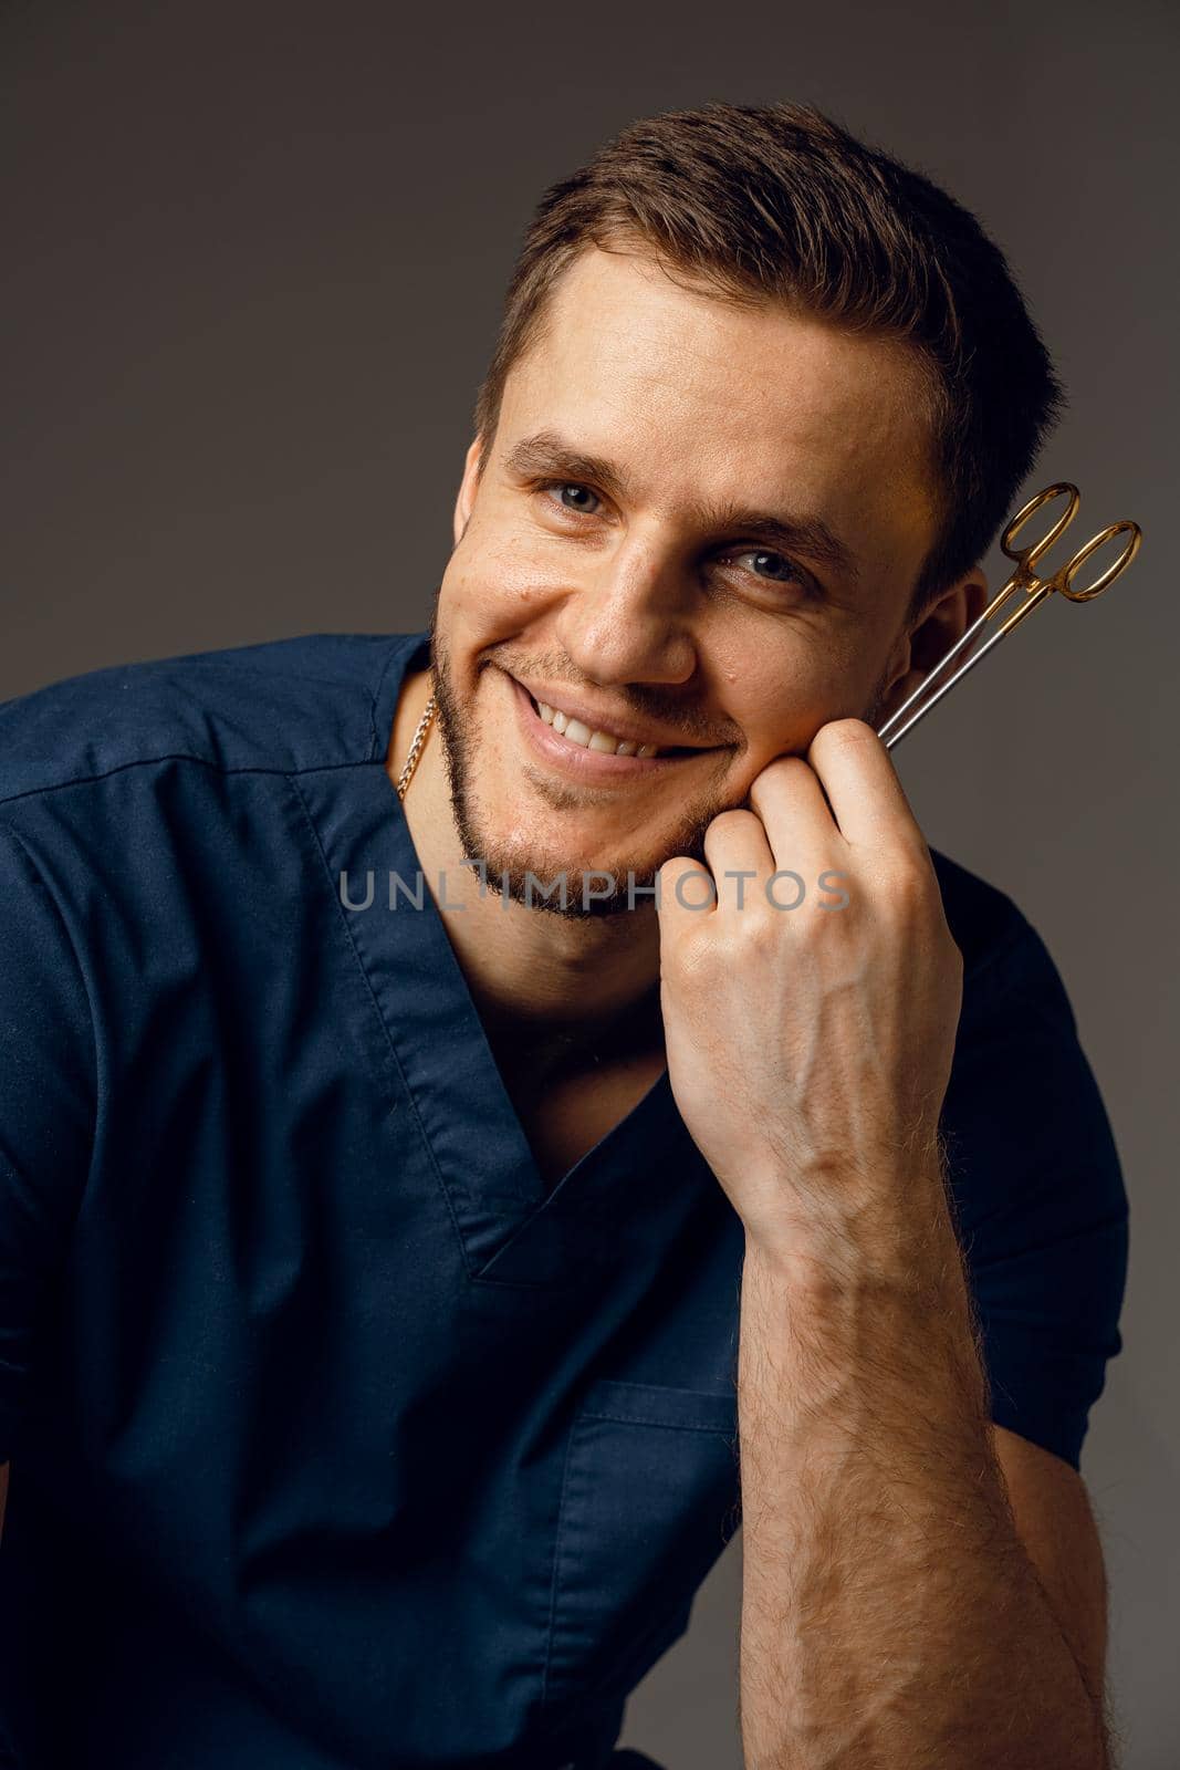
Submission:
[[[923,1246],[828,1267],[747,1241],[747,1770],[1102,1770],[1019,1540],[941,1174]],[[828,1271],[837,1276],[824,1276]]]

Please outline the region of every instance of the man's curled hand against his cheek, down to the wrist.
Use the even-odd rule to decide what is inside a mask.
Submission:
[[[863,720],[823,726],[807,761],[770,763],[748,796],[752,811],[725,811],[706,834],[711,906],[697,862],[660,869],[669,1081],[747,1243],[823,1271],[892,1271],[929,1200],[888,1182],[931,1168],[962,956],[890,754]],[[801,876],[798,908],[768,897],[777,871]],[[826,871],[842,874],[844,908],[821,906]],[[741,873],[754,876],[727,876]],[[771,896],[791,904],[798,885],[777,880]]]

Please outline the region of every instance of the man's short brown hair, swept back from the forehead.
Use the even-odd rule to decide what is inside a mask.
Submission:
[[[931,391],[934,543],[908,621],[987,552],[1065,395],[1015,278],[931,179],[807,104],[725,104],[630,124],[541,196],[476,398],[479,473],[504,382],[554,283],[591,246],[639,244],[736,304],[780,301],[908,342]]]

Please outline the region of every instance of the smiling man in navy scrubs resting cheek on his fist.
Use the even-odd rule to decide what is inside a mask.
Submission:
[[[529,230],[430,632],[0,712],[19,1763],[596,1770],[739,1519],[750,1766],[1107,1761],[1127,1197],[874,733],[1056,404],[929,182],[649,119]]]

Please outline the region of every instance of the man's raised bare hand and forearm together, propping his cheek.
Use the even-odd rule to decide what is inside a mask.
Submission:
[[[706,832],[716,906],[685,906],[702,876],[678,901],[683,855],[658,899],[669,1080],[747,1232],[745,1763],[1097,1770],[1099,1697],[1012,1515],[943,1184],[962,956],[931,853],[856,719],[750,805]],[[777,910],[787,869],[807,896]],[[842,910],[819,906],[826,871]]]

